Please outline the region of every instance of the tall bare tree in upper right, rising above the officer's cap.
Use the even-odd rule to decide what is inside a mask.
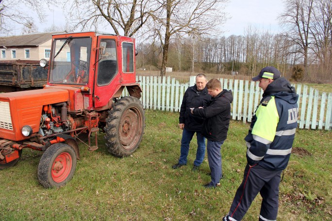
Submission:
[[[301,48],[303,65],[308,65],[310,22],[314,0],[285,0],[285,12],[279,16],[290,44]]]

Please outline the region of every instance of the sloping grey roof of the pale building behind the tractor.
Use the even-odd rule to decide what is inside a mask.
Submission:
[[[48,32],[37,34],[25,34],[0,38],[0,47],[37,47],[50,40],[53,34],[62,32]]]

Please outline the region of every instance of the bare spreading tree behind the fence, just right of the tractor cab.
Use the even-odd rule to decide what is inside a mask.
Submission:
[[[163,47],[161,76],[166,73],[168,47],[171,37],[179,35],[209,35],[226,21],[222,12],[227,0],[159,0],[162,6],[153,13],[154,37]]]

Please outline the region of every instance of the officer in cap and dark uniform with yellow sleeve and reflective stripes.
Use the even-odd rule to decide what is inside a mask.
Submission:
[[[258,193],[263,198],[259,221],[277,219],[280,177],[292,152],[299,112],[299,95],[280,75],[268,66],[252,78],[260,81],[264,94],[245,138],[248,163],[243,181],[223,221],[242,220]]]

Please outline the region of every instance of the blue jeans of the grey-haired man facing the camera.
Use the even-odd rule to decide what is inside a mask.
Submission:
[[[195,134],[195,131],[188,131],[186,129],[183,129],[182,132],[182,140],[181,140],[181,155],[179,158],[180,164],[187,164],[187,157],[189,153],[189,143],[191,139],[193,139],[193,136]],[[199,166],[204,159],[205,155],[205,137],[203,137],[199,132],[196,132],[197,136],[197,152],[196,152],[196,159],[194,161],[195,166]]]

